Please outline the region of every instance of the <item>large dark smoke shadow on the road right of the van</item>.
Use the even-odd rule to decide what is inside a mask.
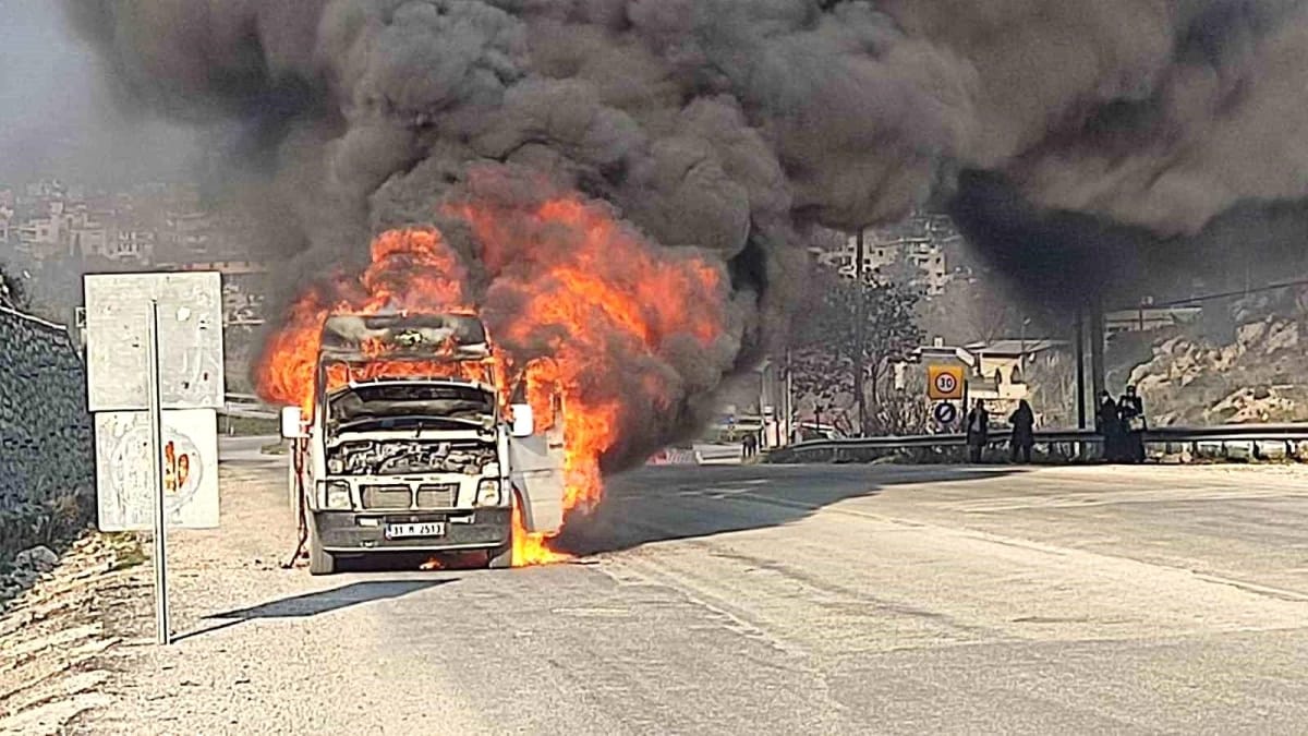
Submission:
[[[650,542],[781,526],[852,498],[901,485],[986,481],[1018,468],[753,465],[642,468],[608,479],[594,515],[564,529],[560,549],[577,555]]]

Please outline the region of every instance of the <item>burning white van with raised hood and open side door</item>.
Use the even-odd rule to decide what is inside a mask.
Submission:
[[[387,551],[510,567],[527,538],[559,533],[561,422],[538,431],[531,405],[510,403],[526,373],[510,385],[479,317],[334,314],[314,371],[307,411],[281,416],[311,574]]]

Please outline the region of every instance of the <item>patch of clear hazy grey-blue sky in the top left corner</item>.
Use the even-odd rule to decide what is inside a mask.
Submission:
[[[122,181],[184,172],[194,134],[128,120],[55,0],[0,0],[0,182]]]

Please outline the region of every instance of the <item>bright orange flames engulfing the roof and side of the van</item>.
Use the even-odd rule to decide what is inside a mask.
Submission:
[[[667,411],[680,390],[658,359],[662,351],[687,339],[709,350],[723,334],[722,271],[651,246],[606,207],[576,196],[530,207],[464,202],[446,213],[471,225],[489,276],[485,288],[473,293],[467,268],[439,232],[386,232],[373,242],[371,263],[361,274],[335,274],[290,306],[255,368],[259,393],[311,410],[320,331],[330,314],[480,313],[496,358],[458,369],[505,389],[505,376],[525,375],[538,426],[562,430],[565,513],[586,512],[603,498],[604,453],[645,422],[641,413]],[[379,359],[364,369],[366,376],[336,367],[328,380],[450,369]],[[517,511],[514,526],[514,566],[566,557],[549,547],[551,540],[526,534]]]

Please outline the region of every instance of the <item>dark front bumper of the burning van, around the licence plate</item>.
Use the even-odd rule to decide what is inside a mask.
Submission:
[[[387,524],[443,521],[441,537],[388,540]],[[454,551],[493,549],[511,538],[513,512],[509,508],[476,511],[416,511],[400,513],[360,513],[318,511],[309,521],[326,551],[360,554],[368,551]]]

